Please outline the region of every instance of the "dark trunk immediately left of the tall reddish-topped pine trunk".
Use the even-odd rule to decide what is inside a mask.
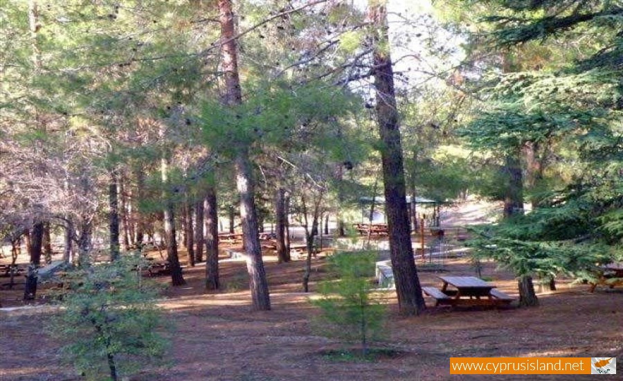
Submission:
[[[206,289],[217,290],[219,281],[219,215],[216,189],[206,190]]]

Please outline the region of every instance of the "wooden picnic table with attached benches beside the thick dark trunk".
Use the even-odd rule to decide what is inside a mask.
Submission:
[[[440,276],[443,286],[422,287],[424,294],[435,299],[435,305],[500,306],[514,301],[514,297],[495,289],[495,285],[476,276]],[[452,286],[453,289],[449,289]]]

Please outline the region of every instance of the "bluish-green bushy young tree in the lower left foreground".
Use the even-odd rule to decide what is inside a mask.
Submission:
[[[152,362],[162,364],[168,347],[161,311],[154,301],[158,287],[136,269],[146,263],[125,255],[114,263],[79,269],[66,277],[60,312],[49,331],[66,345],[62,354],[89,380],[132,375]]]

